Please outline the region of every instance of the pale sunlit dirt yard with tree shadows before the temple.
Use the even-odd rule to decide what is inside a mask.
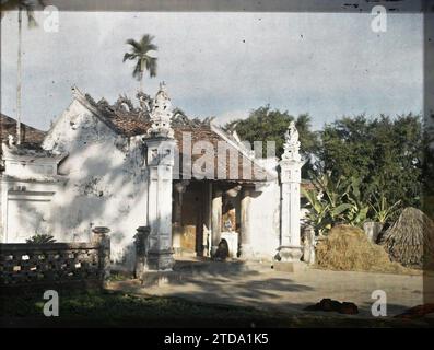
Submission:
[[[434,277],[315,268],[288,272],[272,269],[270,265],[178,261],[176,272],[159,285],[143,287],[139,280],[124,280],[110,282],[109,289],[288,313],[325,314],[304,308],[330,298],[355,303],[360,311],[357,317],[372,317],[375,290],[386,292],[387,316],[423,304],[426,298],[434,299],[433,290],[426,291],[427,282],[434,284]]]

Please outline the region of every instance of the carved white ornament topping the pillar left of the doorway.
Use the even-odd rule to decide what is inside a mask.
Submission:
[[[148,133],[153,137],[173,138],[174,130],[171,126],[172,117],[172,102],[167,94],[166,84],[161,82],[160,90],[152,103],[150,115],[152,125]]]

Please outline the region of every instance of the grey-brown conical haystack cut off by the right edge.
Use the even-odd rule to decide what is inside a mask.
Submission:
[[[406,208],[380,244],[394,261],[412,268],[433,268],[434,223],[419,209]]]

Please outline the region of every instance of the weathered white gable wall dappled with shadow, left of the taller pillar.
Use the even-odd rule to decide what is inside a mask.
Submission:
[[[132,267],[136,229],[146,225],[148,175],[140,137],[117,136],[74,101],[44,148],[69,153],[59,166],[68,182],[47,213],[58,241],[89,241],[92,228],[108,226],[112,258]]]

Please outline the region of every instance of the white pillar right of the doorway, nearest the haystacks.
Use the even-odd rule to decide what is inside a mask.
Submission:
[[[280,161],[281,176],[281,246],[282,261],[298,261],[302,257],[300,228],[300,183],[302,159],[298,131],[291,121],[285,133],[284,152]]]

